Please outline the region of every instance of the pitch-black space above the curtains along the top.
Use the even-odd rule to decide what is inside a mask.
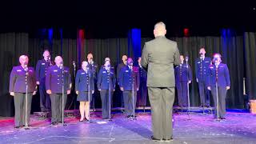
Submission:
[[[142,36],[151,36],[154,23],[166,23],[168,34],[214,35],[221,28],[254,30],[254,1],[179,0],[179,1],[48,1],[22,0],[0,2],[0,31],[36,30],[81,27],[91,38],[125,37],[131,28],[142,29]]]

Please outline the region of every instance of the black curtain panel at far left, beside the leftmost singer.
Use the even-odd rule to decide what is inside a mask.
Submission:
[[[9,78],[12,66],[19,64],[18,57],[27,54],[29,34],[7,33],[0,34],[0,115],[14,115],[14,98],[9,94]]]

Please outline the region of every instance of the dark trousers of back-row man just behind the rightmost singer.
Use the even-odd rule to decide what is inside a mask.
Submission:
[[[199,81],[198,86],[201,106],[210,106],[210,91],[207,89],[206,82]]]

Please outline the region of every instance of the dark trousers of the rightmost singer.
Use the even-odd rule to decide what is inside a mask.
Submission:
[[[211,86],[211,94],[214,97],[214,106],[215,106],[215,115],[214,117],[217,118],[217,93],[216,87]],[[226,115],[226,87],[218,86],[218,117],[225,118]]]

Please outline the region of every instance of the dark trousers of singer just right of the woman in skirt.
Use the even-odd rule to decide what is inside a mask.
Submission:
[[[110,92],[109,90],[101,90],[101,99],[102,99],[102,118],[110,118],[110,107],[112,104],[112,98],[113,98],[113,91]],[[111,102],[111,103],[110,103]]]

